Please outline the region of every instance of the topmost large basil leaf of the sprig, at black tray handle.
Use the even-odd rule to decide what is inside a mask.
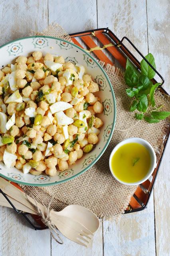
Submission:
[[[146,55],[145,58],[154,68],[156,68],[154,56],[151,53]],[[149,79],[154,78],[155,71],[148,65],[148,63],[144,59],[140,62],[140,69],[141,73],[147,76]]]

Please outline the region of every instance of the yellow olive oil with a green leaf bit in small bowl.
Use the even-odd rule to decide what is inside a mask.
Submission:
[[[118,180],[133,183],[142,180],[150,168],[150,154],[139,143],[127,143],[113,154],[112,172]]]

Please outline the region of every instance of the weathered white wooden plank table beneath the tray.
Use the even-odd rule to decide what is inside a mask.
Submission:
[[[109,27],[128,36],[146,55],[152,52],[170,93],[169,0],[1,0],[0,44],[28,36],[57,22],[68,33]],[[166,148],[148,208],[105,221],[91,248],[67,239],[59,245],[49,230],[35,231],[13,210],[0,207],[0,256],[168,256],[170,225],[170,143]]]

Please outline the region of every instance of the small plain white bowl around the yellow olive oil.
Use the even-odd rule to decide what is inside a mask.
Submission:
[[[146,176],[142,180],[139,180],[138,182],[128,183],[128,182],[123,182],[123,181],[119,180],[117,178],[117,176],[115,176],[115,174],[113,173],[112,168],[111,168],[112,156],[115,154],[115,152],[118,150],[118,148],[120,148],[121,146],[123,146],[123,145],[125,145],[127,143],[139,143],[139,144],[143,145],[149,151],[149,154],[150,154],[151,162],[150,162],[150,168],[148,170],[148,173],[146,174]],[[140,138],[128,138],[126,140],[123,140],[119,144],[117,144],[117,146],[115,146],[115,148],[112,150],[110,158],[109,158],[109,168],[110,168],[110,171],[111,171],[111,174],[113,175],[113,177],[117,181],[121,182],[122,184],[138,185],[138,184],[141,184],[142,182],[144,182],[145,180],[148,180],[148,178],[151,176],[152,172],[156,168],[156,154],[154,152],[153,147],[146,140],[143,140],[143,139],[140,139]]]

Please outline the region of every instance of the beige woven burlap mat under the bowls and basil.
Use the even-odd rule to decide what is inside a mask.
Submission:
[[[46,35],[63,38],[71,41],[69,35],[59,26],[49,26],[42,33],[32,35]],[[104,65],[103,63],[101,63]],[[134,119],[134,112],[128,111],[131,100],[125,93],[127,87],[123,72],[114,66],[105,66],[117,101],[117,122],[113,138],[100,160],[87,172],[63,184],[48,187],[22,186],[24,191],[30,192],[39,202],[46,206],[51,195],[55,196],[52,208],[61,210],[68,204],[79,204],[92,210],[99,217],[118,218],[125,212],[137,186],[127,186],[117,182],[109,170],[109,156],[115,145],[125,138],[140,137],[154,147],[157,158],[160,157],[167,122],[148,124],[145,121]],[[163,110],[168,110],[170,104],[162,94],[157,91],[156,105],[164,104]]]

